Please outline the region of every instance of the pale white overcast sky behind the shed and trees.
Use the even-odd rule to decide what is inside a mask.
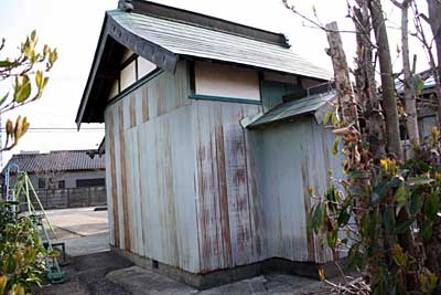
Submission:
[[[324,32],[310,28],[298,15],[287,10],[281,0],[154,0],[168,6],[223,18],[229,21],[284,33],[291,49],[319,66],[332,69],[324,53],[327,46]],[[395,52],[399,44],[400,12],[385,2],[388,19],[390,46],[395,69],[400,70],[400,56]],[[420,0],[421,11],[426,11]],[[337,21],[341,29],[353,30],[347,14],[346,0],[294,0],[299,11],[313,18],[313,7],[322,23]],[[20,140],[18,147],[2,152],[2,165],[12,154],[22,150],[60,150],[97,148],[104,137],[104,125],[83,124],[75,130],[75,117],[90,70],[106,10],[116,9],[118,0],[13,0],[0,1],[0,38],[7,40],[0,59],[13,56],[17,46],[26,34],[36,30],[40,44],[57,48],[58,61],[51,71],[51,81],[43,97],[28,106],[2,115],[7,118],[28,116],[33,128]],[[352,65],[355,38],[343,34],[349,65]],[[427,69],[427,57],[418,41],[410,39],[411,54],[418,54],[418,70]],[[0,82],[0,94],[10,87],[10,82]],[[71,128],[51,130],[51,128]],[[2,135],[4,138],[4,135]],[[4,139],[3,139],[4,140]],[[3,141],[4,143],[4,141]]]

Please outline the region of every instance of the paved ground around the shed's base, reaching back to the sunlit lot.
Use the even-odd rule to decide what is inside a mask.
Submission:
[[[268,274],[233,284],[198,291],[151,270],[135,266],[109,251],[107,211],[94,208],[47,211],[55,228],[54,241],[63,241],[69,255],[64,266],[66,281],[34,291],[39,295],[223,295],[223,294],[315,294],[320,282],[287,275]]]

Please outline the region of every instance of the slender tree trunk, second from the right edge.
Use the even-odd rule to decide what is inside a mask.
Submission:
[[[408,29],[408,14],[410,1],[405,0],[401,4],[401,52],[402,52],[402,72],[405,74],[405,110],[406,128],[409,140],[412,147],[419,146],[420,135],[418,131],[418,117],[417,117],[417,99],[416,93],[411,85],[412,72],[410,71],[409,57],[409,29]]]

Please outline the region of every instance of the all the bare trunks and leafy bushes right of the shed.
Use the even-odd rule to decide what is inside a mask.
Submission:
[[[432,52],[435,50],[432,45],[441,41],[440,11],[429,11],[426,17],[419,12],[417,1],[391,0],[402,13],[405,101],[401,102],[395,88],[401,73],[392,73],[383,2],[347,2],[347,17],[354,22],[352,33],[357,44],[356,67],[349,69],[336,23],[321,25],[284,1],[294,13],[326,32],[337,97],[336,112],[326,116],[326,120],[332,118],[337,136],[334,150],[342,147],[342,169],[346,175],[345,179],[333,180],[324,196],[311,191],[315,204],[309,226],[334,253],[347,253],[351,266],[363,274],[366,284],[351,286],[351,291],[343,286],[340,294],[440,294],[441,104],[434,109],[438,127],[421,143],[416,125],[416,97],[422,85],[415,65],[410,70],[407,40],[408,9],[412,8],[413,35],[428,51],[434,95],[440,102],[441,55],[438,54],[437,65]],[[428,0],[428,4],[440,2]],[[318,18],[315,10],[314,17]],[[431,25],[432,39],[422,20]],[[410,159],[402,152],[399,115],[412,144]],[[324,278],[325,274],[320,275]],[[362,286],[366,288],[359,289]]]

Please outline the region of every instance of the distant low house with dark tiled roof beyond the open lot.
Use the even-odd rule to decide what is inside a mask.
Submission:
[[[54,150],[47,154],[13,155],[10,164],[26,171],[46,209],[106,204],[106,166],[103,157],[89,157],[90,150]],[[10,186],[15,181],[13,169]]]

